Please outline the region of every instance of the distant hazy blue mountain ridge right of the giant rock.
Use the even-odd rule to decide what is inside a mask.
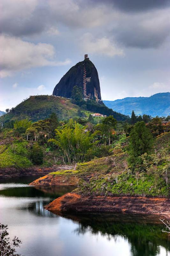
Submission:
[[[131,116],[134,110],[137,116],[147,114],[150,116],[170,115],[170,92],[154,94],[150,97],[128,97],[122,100],[103,100],[108,108],[123,115]]]

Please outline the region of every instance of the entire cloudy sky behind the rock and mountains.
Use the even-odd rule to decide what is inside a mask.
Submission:
[[[84,54],[102,100],[170,92],[170,0],[1,0],[0,110],[52,95]]]

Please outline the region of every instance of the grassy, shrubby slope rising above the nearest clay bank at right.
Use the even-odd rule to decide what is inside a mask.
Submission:
[[[161,145],[160,145],[161,144]],[[127,154],[92,160],[80,164],[77,170],[93,175],[90,180],[80,180],[77,193],[83,195],[140,195],[169,197],[170,132],[155,141],[156,153],[141,156],[135,172],[129,168]]]

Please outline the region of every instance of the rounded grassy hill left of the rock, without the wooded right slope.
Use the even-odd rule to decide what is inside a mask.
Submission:
[[[78,106],[71,103],[71,100],[48,96],[31,96],[12,108],[8,114],[1,116],[1,121],[25,119],[32,121],[45,119],[55,112],[60,119],[67,119],[78,116]]]

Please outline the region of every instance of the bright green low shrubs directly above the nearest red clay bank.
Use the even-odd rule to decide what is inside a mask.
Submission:
[[[78,191],[90,195],[140,195],[169,196],[165,179],[155,174],[143,174],[138,180],[134,174],[123,172],[117,176],[92,177],[89,183],[82,183]]]

